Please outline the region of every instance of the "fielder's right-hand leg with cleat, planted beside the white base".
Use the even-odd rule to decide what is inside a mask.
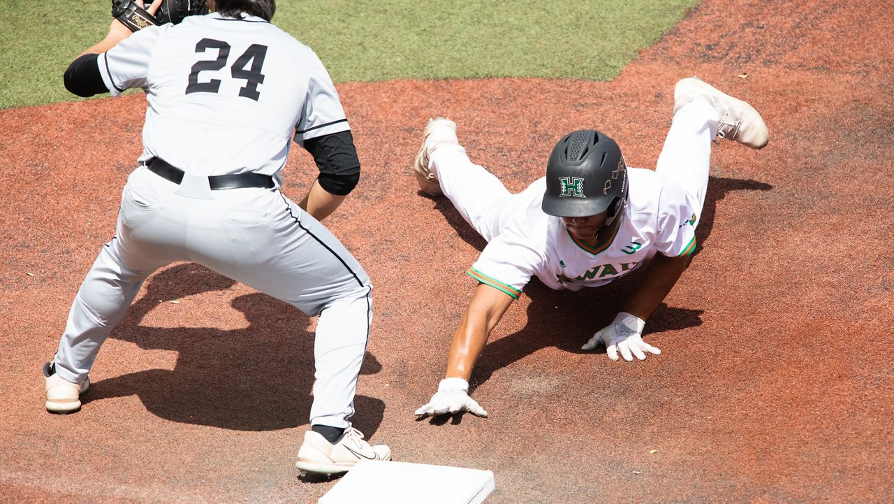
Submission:
[[[190,243],[193,261],[319,315],[311,431],[299,451],[299,468],[344,472],[358,462],[351,449],[389,459],[388,447],[370,446],[350,424],[372,321],[367,273],[325,226],[281,192],[233,190],[215,198],[194,216],[201,240]]]

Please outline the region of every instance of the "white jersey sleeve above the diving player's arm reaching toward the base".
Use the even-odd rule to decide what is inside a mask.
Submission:
[[[519,229],[509,226],[485,246],[478,261],[466,273],[482,284],[519,299],[521,289],[542,267],[546,253]]]

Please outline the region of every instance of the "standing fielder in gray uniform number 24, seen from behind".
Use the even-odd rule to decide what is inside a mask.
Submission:
[[[210,6],[214,13],[132,34],[113,21],[109,35],[65,73],[66,87],[80,96],[140,88],[148,109],[116,233],[80,286],[45,365],[46,409],[80,408],[99,347],[143,280],[173,261],[194,261],[319,316],[311,427],[296,466],[333,474],[360,458],[390,459],[388,447],[371,446],[349,421],[372,286],[319,222],[359,179],[338,94],[316,54],[271,24],[274,0]],[[299,203],[279,190],[292,139],[320,169]],[[232,372],[221,370],[220,379],[232,380]]]

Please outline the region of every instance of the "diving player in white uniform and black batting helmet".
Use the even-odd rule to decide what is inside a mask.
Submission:
[[[612,361],[619,353],[625,361],[661,354],[641,335],[696,250],[712,141],[761,149],[769,139],[754,107],[704,81],[679,81],[674,100],[654,171],[628,168],[615,141],[582,130],[565,135],[546,176],[518,194],[469,160],[456,124],[429,122],[414,166],[417,181],[423,192],[446,195],[488,243],[467,271],[478,286],[453,334],[445,378],[417,415],[487,415],[468,396],[468,379],[491,330],[533,276],[553,289],[576,291],[605,285],[649,260],[624,311],[583,349],[604,345]]]

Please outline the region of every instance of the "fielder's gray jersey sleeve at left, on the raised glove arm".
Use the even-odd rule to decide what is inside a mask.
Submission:
[[[131,88],[146,88],[153,50],[168,26],[150,26],[134,31],[117,46],[99,55],[99,73],[112,96],[119,96]]]

